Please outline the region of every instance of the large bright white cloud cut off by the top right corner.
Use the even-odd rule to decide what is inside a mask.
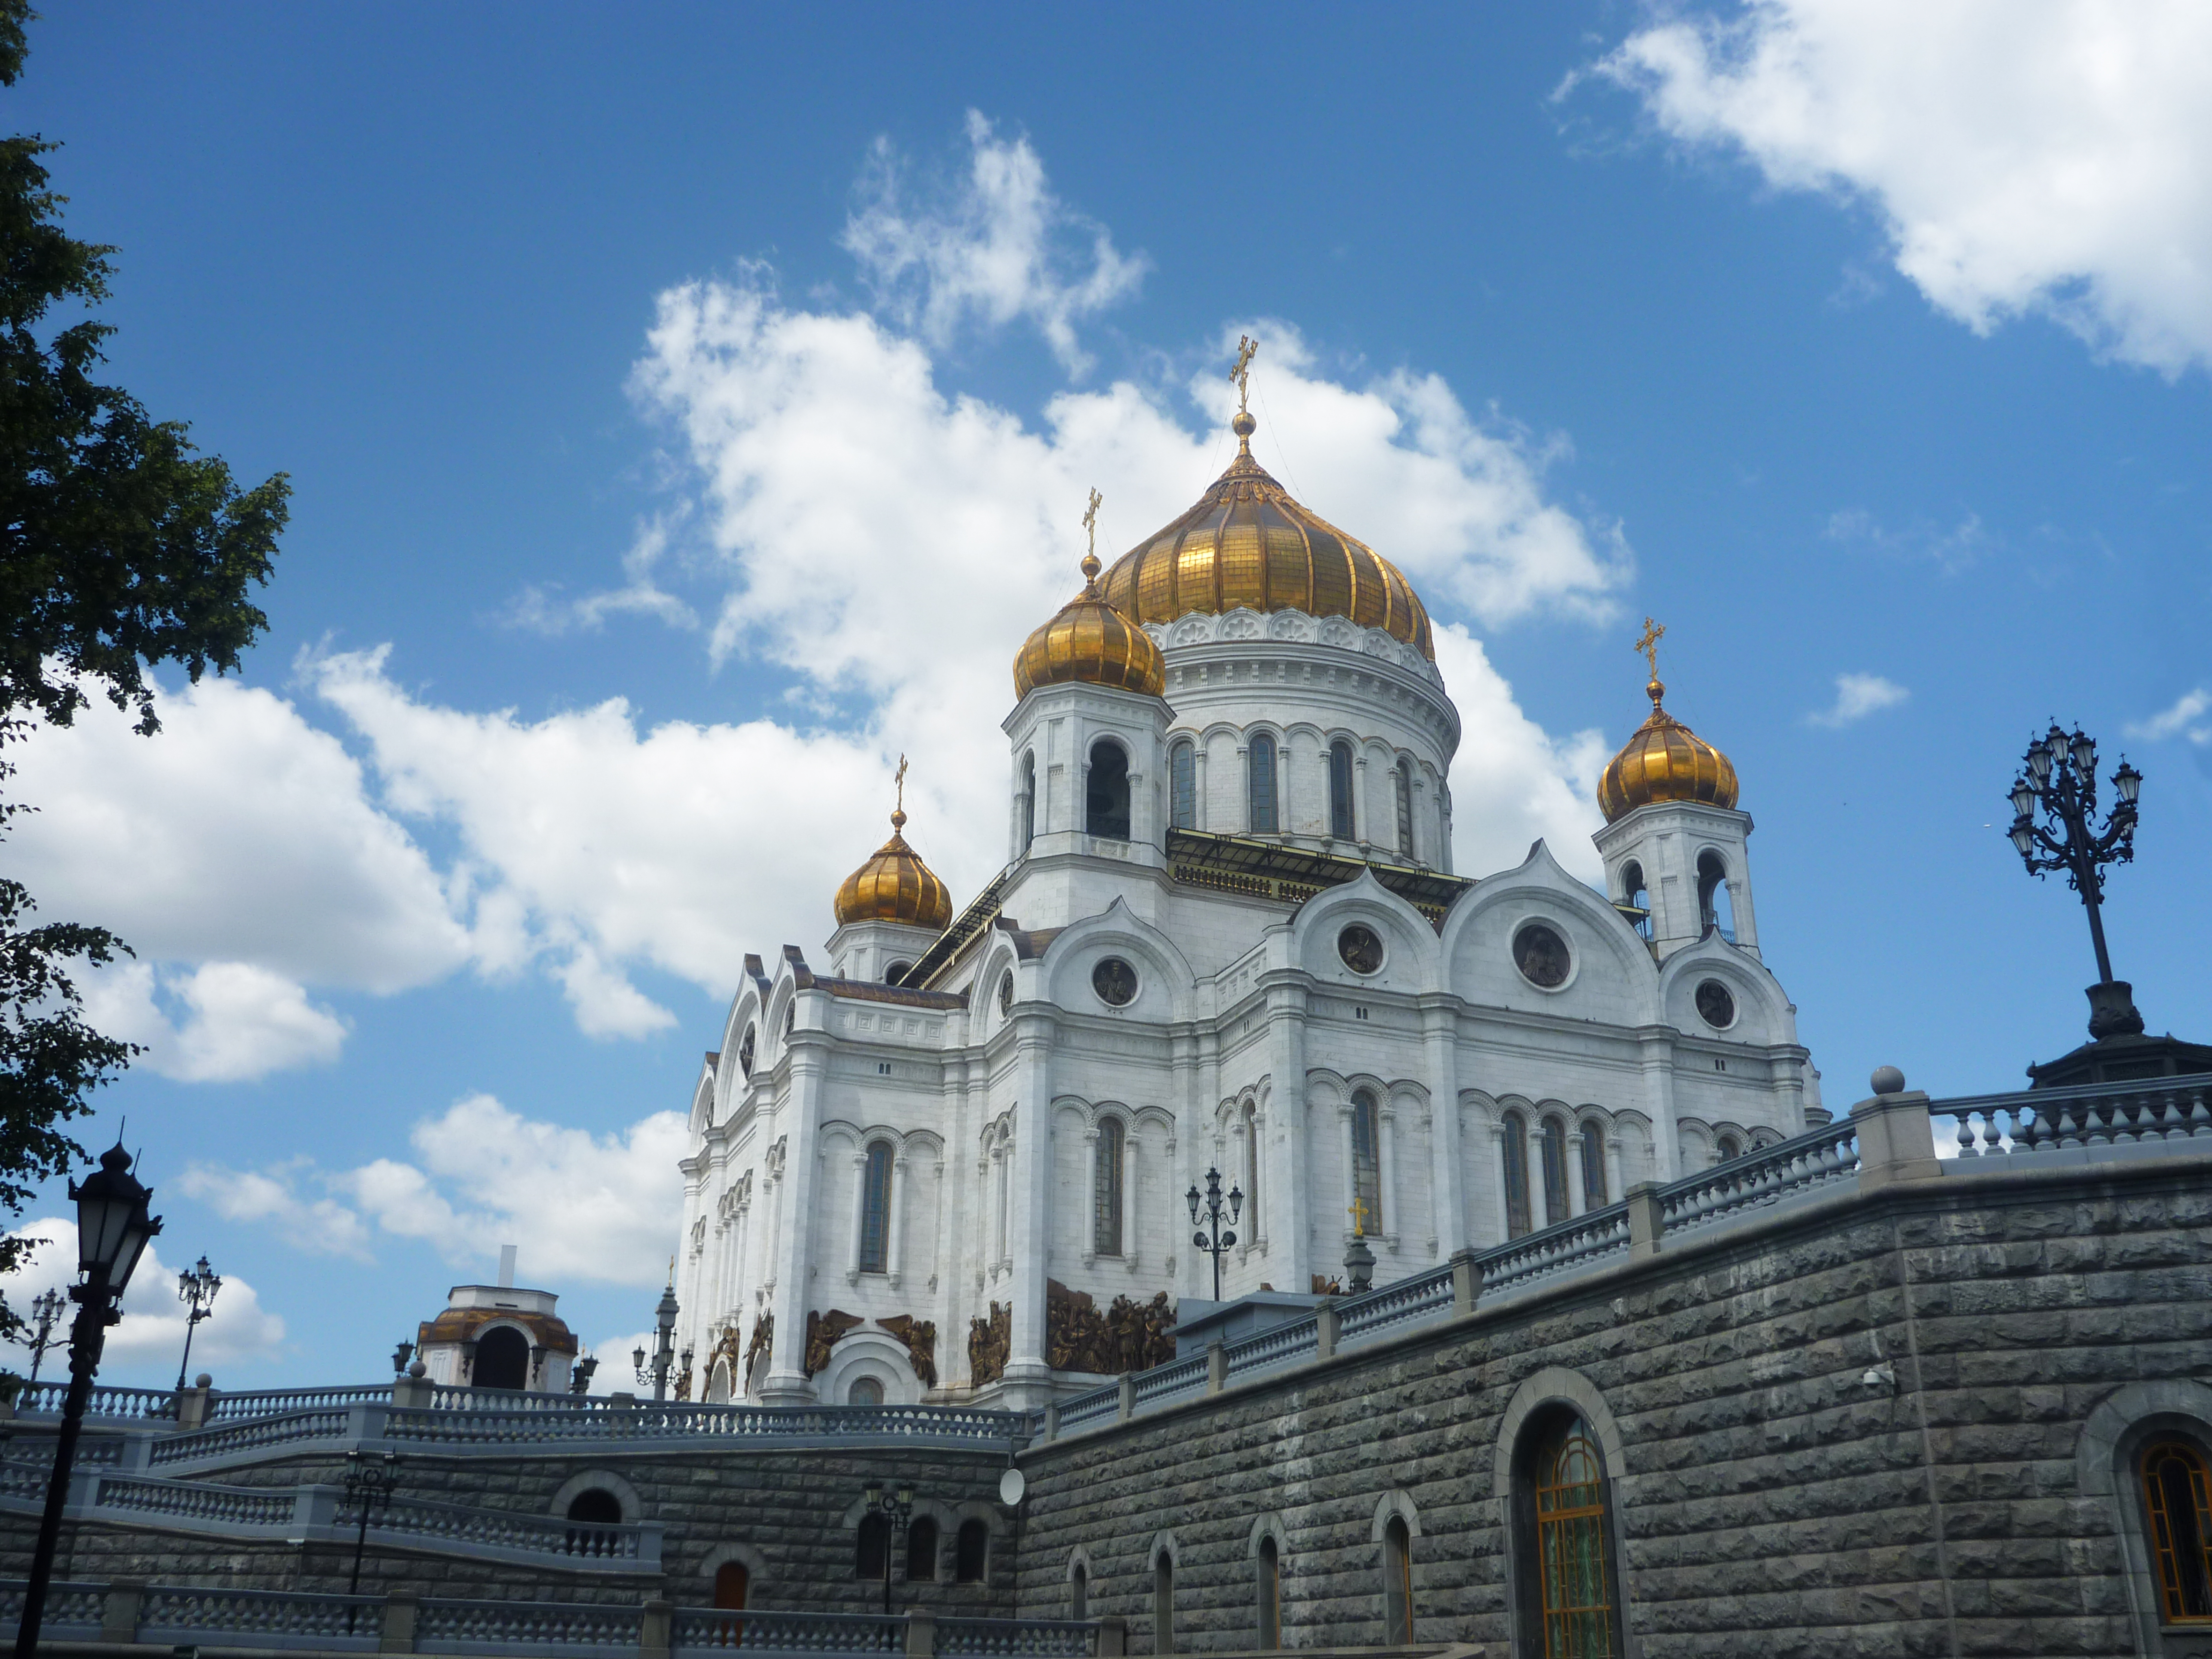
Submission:
[[[1975,332],[2039,312],[2166,374],[2212,361],[2212,9],[2194,0],[1754,0],[1597,73],[1670,137],[1871,204]]]

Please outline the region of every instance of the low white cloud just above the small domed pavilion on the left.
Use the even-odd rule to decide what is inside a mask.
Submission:
[[[409,1144],[414,1161],[380,1157],[352,1170],[305,1159],[268,1170],[192,1166],[184,1190],[321,1254],[367,1261],[383,1232],[480,1272],[513,1243],[529,1283],[659,1283],[668,1217],[684,1201],[681,1113],[591,1135],[469,1095],[416,1124]]]

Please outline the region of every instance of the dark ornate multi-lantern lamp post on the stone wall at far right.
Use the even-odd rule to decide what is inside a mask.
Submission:
[[[2022,772],[2013,779],[2011,841],[2031,876],[2066,872],[2066,885],[2081,894],[2088,938],[2097,947],[2097,984],[2088,991],[2088,1035],[2104,1040],[2137,1035],[2143,1015],[2135,1011],[2132,987],[2112,978],[2112,953],[2104,947],[2104,867],[2135,860],[2135,796],[2143,774],[2126,757],[2112,772],[2112,810],[2097,818],[2097,739],[2079,726],[2068,734],[2051,730],[2028,743]]]

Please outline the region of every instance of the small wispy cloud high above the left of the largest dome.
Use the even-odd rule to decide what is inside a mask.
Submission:
[[[967,142],[960,186],[914,208],[907,164],[876,139],[845,250],[876,303],[933,345],[969,316],[989,327],[1029,319],[1071,372],[1088,369],[1075,323],[1135,296],[1150,261],[1121,257],[1106,226],[1060,201],[1029,139],[1002,139],[969,111]]]

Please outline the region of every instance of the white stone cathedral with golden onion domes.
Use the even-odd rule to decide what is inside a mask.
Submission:
[[[814,962],[745,958],[690,1102],[679,1396],[1037,1409],[1345,1287],[1356,1239],[1389,1285],[1827,1121],[1659,630],[1604,891],[1542,841],[1460,874],[1484,803],[1420,595],[1232,427],[1015,655],[1004,869],[956,909],[894,812]]]

